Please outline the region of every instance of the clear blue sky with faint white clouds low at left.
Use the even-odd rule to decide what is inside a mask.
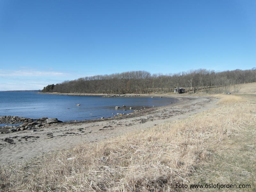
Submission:
[[[0,0],[0,91],[255,61],[255,0]]]

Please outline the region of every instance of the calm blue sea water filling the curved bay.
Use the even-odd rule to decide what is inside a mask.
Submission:
[[[35,92],[0,92],[0,116],[27,118],[58,118],[60,121],[80,121],[113,116],[112,113],[131,113],[141,109],[163,106],[175,102],[171,98],[150,97],[100,97],[44,95]],[[80,106],[76,106],[80,104]],[[125,105],[126,108],[122,106]],[[115,109],[119,106],[120,109]],[[129,108],[133,109],[130,110]],[[124,111],[126,109],[126,111]]]

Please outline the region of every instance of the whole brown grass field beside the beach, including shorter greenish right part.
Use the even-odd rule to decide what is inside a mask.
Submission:
[[[255,191],[256,96],[213,97],[218,108],[187,119],[1,167],[1,190],[192,191],[176,183],[210,182]]]

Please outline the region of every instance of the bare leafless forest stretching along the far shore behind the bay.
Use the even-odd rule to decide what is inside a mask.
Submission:
[[[239,90],[237,84],[256,82],[256,68],[216,72],[196,69],[173,74],[151,74],[147,71],[129,71],[111,75],[82,77],[44,87],[42,92],[60,93],[166,93],[183,87],[188,93],[226,93]]]

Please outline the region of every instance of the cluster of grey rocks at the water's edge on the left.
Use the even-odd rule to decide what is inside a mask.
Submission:
[[[32,130],[49,127],[62,123],[57,118],[42,117],[40,119],[30,119],[18,116],[0,116],[0,124],[9,124],[0,126],[0,134],[12,133],[16,131]]]

